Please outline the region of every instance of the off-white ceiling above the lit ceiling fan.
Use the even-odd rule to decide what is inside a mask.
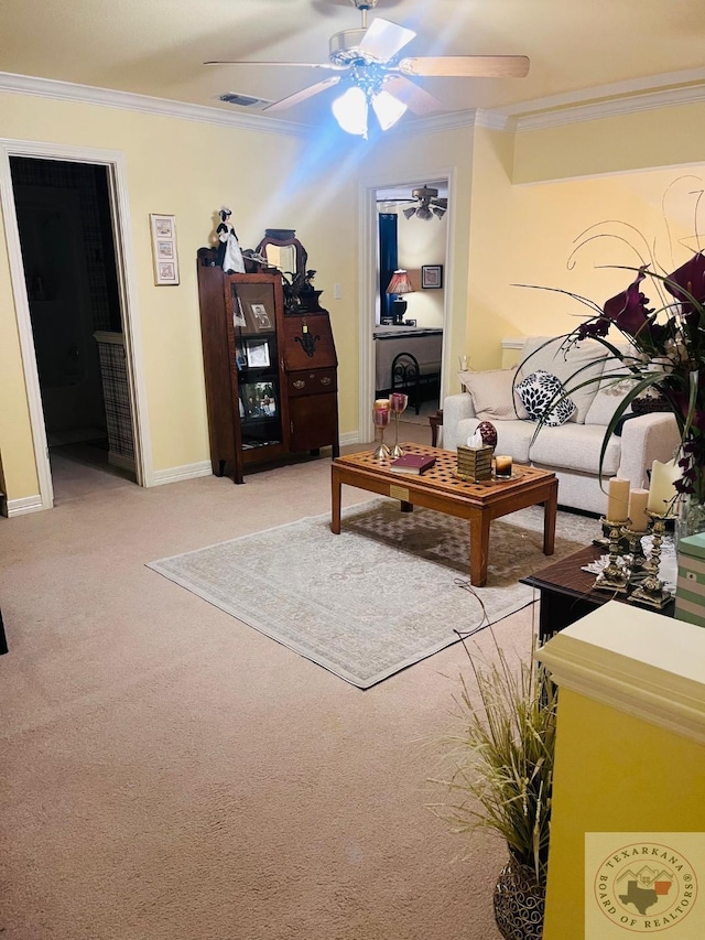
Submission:
[[[417,32],[404,55],[530,57],[524,79],[414,79],[448,110],[521,114],[582,89],[594,90],[577,100],[599,100],[705,83],[703,0],[379,0],[377,15]],[[323,63],[329,36],[360,22],[351,0],[3,0],[0,68],[242,111],[218,96],[276,100],[329,73],[206,60]],[[315,123],[335,94],[276,117]]]

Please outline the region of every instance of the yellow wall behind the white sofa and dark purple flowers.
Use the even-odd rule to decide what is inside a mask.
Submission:
[[[658,128],[654,119],[654,137]],[[547,165],[560,150],[567,168],[571,148],[583,144],[582,137],[574,141],[574,128],[564,131],[560,141],[556,131],[544,132]],[[565,294],[520,284],[561,289],[601,306],[634,277],[615,266],[653,260],[653,270],[666,272],[698,247],[705,164],[516,185],[513,165],[527,158],[520,153],[527,137],[517,136],[514,154],[510,133],[475,132],[466,349],[474,369],[508,365],[505,337],[567,333],[593,312]],[[651,282],[646,292],[659,306]]]

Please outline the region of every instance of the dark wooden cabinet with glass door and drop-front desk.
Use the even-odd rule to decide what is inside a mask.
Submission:
[[[210,463],[245,468],[299,451],[338,449],[337,358],[324,310],[285,313],[282,278],[225,274],[198,252]]]

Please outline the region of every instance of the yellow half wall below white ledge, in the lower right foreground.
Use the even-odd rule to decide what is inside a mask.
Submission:
[[[705,831],[705,747],[562,688],[544,940],[584,936],[586,832]]]

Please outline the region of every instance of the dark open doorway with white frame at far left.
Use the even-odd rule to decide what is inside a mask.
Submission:
[[[122,155],[11,141],[1,151],[40,486],[37,498],[8,505],[8,515],[52,508],[61,449],[84,449],[84,463],[106,477],[150,485]]]

